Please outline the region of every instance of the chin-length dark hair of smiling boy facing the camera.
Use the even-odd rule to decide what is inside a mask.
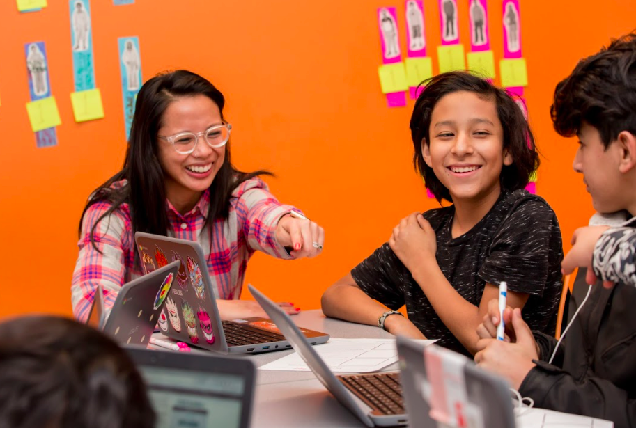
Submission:
[[[426,188],[433,193],[437,201],[446,199],[452,202],[451,194],[435,176],[433,168],[426,165],[422,154],[422,143],[428,144],[431,116],[435,104],[442,97],[456,92],[475,93],[483,100],[492,100],[497,105],[497,116],[504,129],[504,149],[508,150],[513,164],[503,166],[499,181],[502,189],[524,189],[530,175],[539,166],[538,152],[534,145],[534,136],[528,122],[513,97],[502,88],[497,88],[485,79],[470,72],[456,71],[438,74],[421,83],[426,85],[421,91],[411,116],[411,138],[413,140],[413,164],[424,178]]]

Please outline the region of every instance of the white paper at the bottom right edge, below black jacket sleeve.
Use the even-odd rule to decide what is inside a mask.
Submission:
[[[613,428],[614,422],[552,410],[515,409],[517,428]]]

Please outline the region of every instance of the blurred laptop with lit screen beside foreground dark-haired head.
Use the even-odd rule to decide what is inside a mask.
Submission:
[[[244,358],[126,347],[146,383],[157,428],[248,428],[256,367]]]

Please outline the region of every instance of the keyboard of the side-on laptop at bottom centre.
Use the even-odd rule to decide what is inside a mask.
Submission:
[[[348,374],[339,379],[366,404],[385,415],[405,413],[399,373]]]

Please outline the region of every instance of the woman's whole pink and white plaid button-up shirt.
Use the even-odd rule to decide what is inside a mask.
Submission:
[[[125,181],[113,187],[122,187]],[[281,216],[293,207],[282,205],[258,177],[247,180],[234,189],[230,199],[230,215],[225,221],[217,220],[213,228],[212,251],[210,233],[203,229],[210,204],[209,191],[205,191],[192,211],[185,215],[166,200],[170,223],[167,235],[179,239],[199,241],[208,260],[212,285],[216,286],[218,299],[239,299],[247,260],[260,250],[274,257],[290,259],[290,255],[274,237]],[[109,310],[122,285],[144,274],[139,262],[134,263],[134,236],[128,204],[104,218],[95,228],[95,246],[91,243],[91,229],[104,212],[111,207],[108,202],[91,205],[82,223],[79,239],[79,256],[73,271],[71,299],[73,313],[80,321],[88,318],[88,311],[98,285],[104,290],[104,306]]]

